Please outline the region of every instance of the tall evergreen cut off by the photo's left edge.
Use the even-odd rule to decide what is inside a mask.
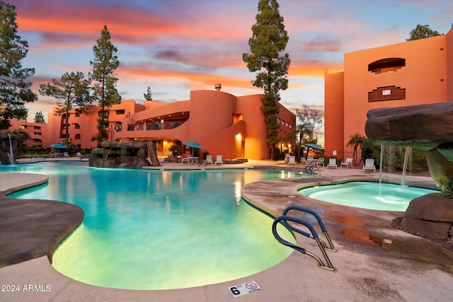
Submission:
[[[25,103],[38,99],[25,81],[35,74],[33,68],[23,68],[21,59],[28,52],[28,42],[17,35],[15,6],[0,1],[0,129],[11,126],[9,120],[26,120]]]

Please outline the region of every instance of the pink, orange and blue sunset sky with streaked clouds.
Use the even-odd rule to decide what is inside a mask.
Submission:
[[[242,54],[256,23],[258,0],[4,0],[16,6],[18,35],[28,41],[24,67],[35,68],[33,91],[62,74],[88,76],[93,46],[107,25],[120,66],[123,100],[188,100],[191,90],[233,95],[262,93],[251,85]],[[323,109],[324,70],[343,71],[343,54],[405,42],[416,25],[447,33],[452,1],[279,0],[289,42],[289,88],[281,103]],[[40,95],[28,104],[28,121],[56,100]]]

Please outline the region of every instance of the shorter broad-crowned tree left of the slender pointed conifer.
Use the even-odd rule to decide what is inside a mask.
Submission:
[[[55,115],[64,115],[67,139],[69,139],[69,112],[75,110],[78,114],[84,113],[93,103],[89,93],[90,84],[91,81],[84,80],[84,74],[77,71],[75,74],[74,72],[63,74],[59,80],[52,79],[52,83],[40,85],[41,95],[57,99],[59,107],[55,110]]]

